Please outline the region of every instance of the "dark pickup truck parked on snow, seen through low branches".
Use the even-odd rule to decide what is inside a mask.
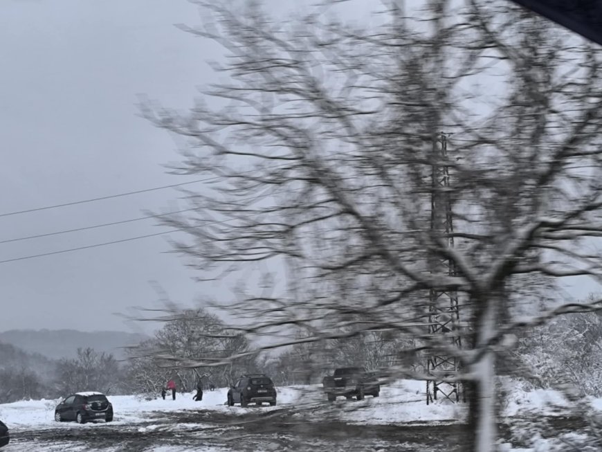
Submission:
[[[378,397],[381,392],[376,372],[367,372],[364,368],[336,369],[333,377],[324,377],[322,386],[329,401],[335,401],[338,395],[362,400],[366,395]]]

